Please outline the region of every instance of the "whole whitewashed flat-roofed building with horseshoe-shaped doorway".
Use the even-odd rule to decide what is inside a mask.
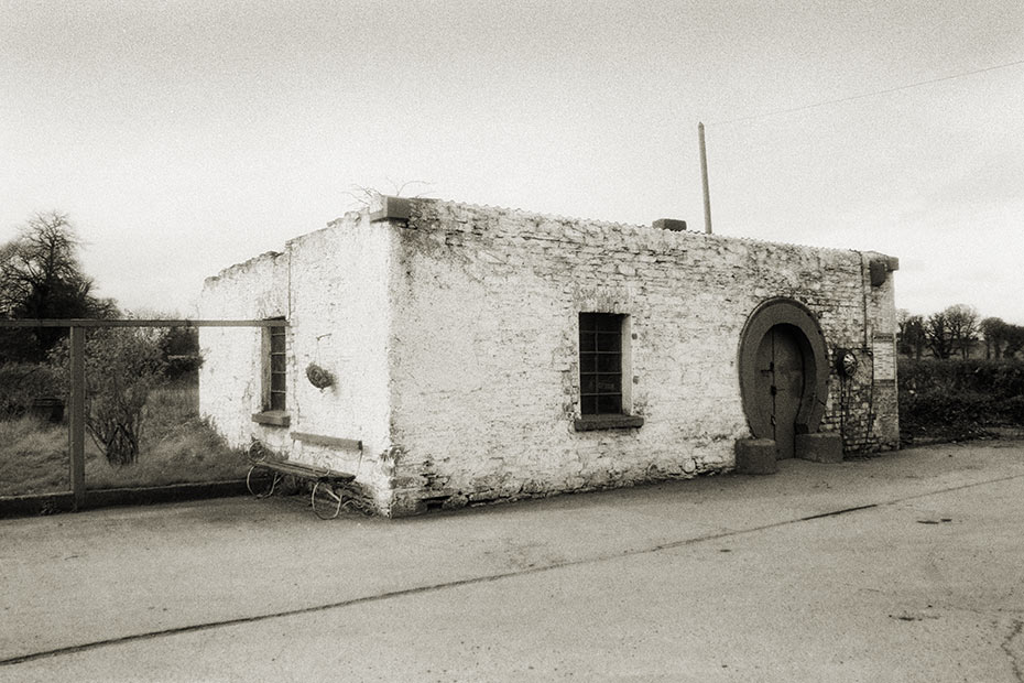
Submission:
[[[680,228],[384,197],[206,281],[287,327],[201,328],[201,411],[389,516],[896,448],[896,260]]]

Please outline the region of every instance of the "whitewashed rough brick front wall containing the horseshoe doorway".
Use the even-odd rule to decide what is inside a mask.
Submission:
[[[830,353],[863,357],[857,377],[834,377],[823,429],[852,449],[893,445],[854,434],[879,424],[872,344],[892,308],[891,281],[871,292],[858,252],[433,200],[412,210],[392,297],[395,513],[731,467],[749,435],[740,333],[773,296],[807,305]],[[574,431],[580,311],[630,316],[624,381],[641,429]]]

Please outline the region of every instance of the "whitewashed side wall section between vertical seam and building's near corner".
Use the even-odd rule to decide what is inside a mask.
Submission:
[[[296,442],[292,458],[357,475],[382,510],[390,506],[388,405],[389,271],[393,228],[349,214],[288,242],[292,256],[290,400],[295,432],[356,440],[362,451]],[[317,389],[309,364],[336,382]]]

